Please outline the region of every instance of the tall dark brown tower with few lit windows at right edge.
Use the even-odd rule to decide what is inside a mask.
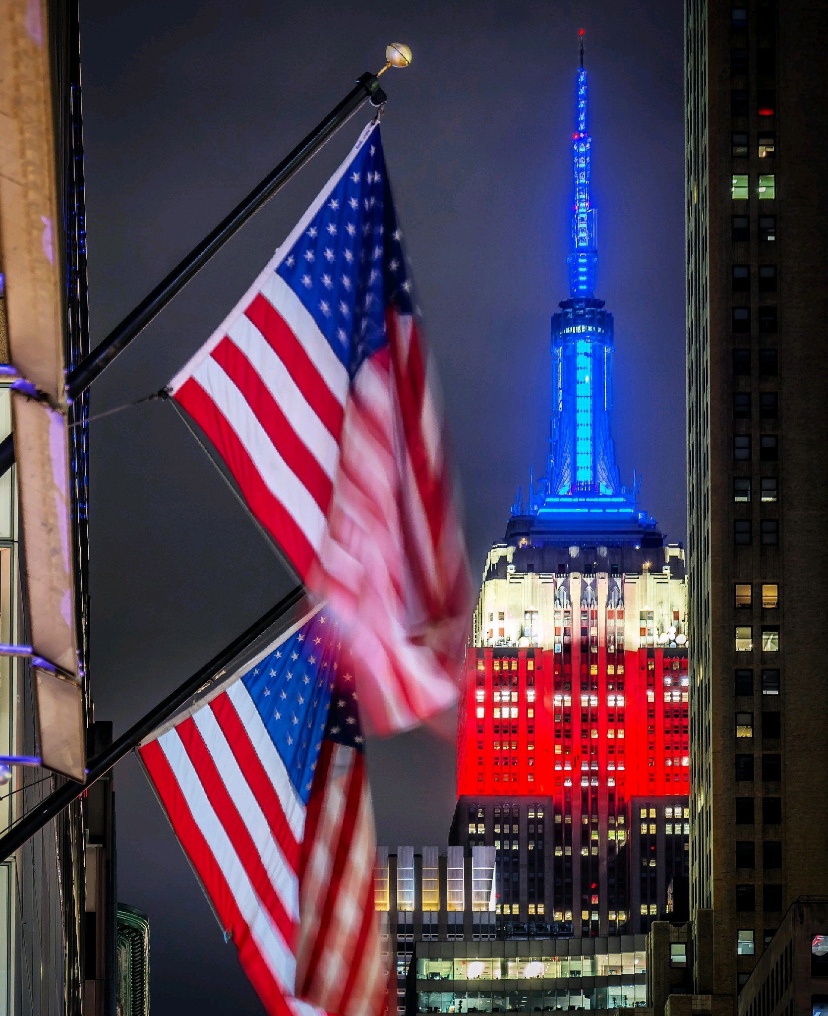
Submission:
[[[828,7],[686,18],[690,892],[734,997],[828,891]]]

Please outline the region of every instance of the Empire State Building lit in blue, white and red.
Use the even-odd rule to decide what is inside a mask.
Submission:
[[[583,49],[576,90],[547,471],[489,553],[458,713],[451,842],[496,848],[515,935],[646,932],[687,873],[684,552],[615,461]]]

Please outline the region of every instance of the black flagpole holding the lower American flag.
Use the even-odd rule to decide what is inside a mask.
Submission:
[[[183,685],[177,688],[171,695],[168,695],[163,702],[160,702],[153,709],[150,709],[137,723],[134,723],[117,741],[114,741],[106,751],[90,759],[87,764],[85,783],[76,783],[72,779],[67,780],[57,790],[54,790],[48,798],[45,798],[39,805],[27,812],[4,836],[0,836],[0,863],[11,856],[16,849],[25,843],[29,836],[34,836],[38,830],[42,829],[47,822],[60,814],[75,798],[79,798],[97,779],[108,773],[116,762],[120,762],[144,738],[174,716],[210,678],[215,677],[218,672],[230,666],[257,638],[264,635],[268,628],[295,608],[304,595],[305,588],[301,585],[297,586],[292,592],[289,592],[264,617],[259,618],[254,625],[251,625],[246,632],[231,642],[226,649],[222,649],[216,656],[213,656],[209,663],[196,671],[191,678],[188,678]]]

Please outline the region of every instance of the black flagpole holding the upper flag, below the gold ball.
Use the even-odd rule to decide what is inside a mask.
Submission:
[[[381,72],[380,72],[381,73]],[[376,74],[366,71],[357,78],[357,84],[345,98],[335,106],[316,127],[303,138],[290,154],[275,167],[262,182],[254,187],[247,197],[227,215],[215,229],[207,234],[201,243],[180,261],[162,279],[150,294],[127,314],[119,325],[105,339],[71,370],[66,377],[66,397],[74,402],[82,395],[92,381],[109,367],[119,353],[122,353],[135,336],[143,331],[149,322],[176,297],[190,279],[209,261],[231,237],[245,225],[336,131],[367,101],[372,106],[382,106],[386,94],[380,87]],[[9,435],[0,442],[0,477],[14,462],[14,442]]]

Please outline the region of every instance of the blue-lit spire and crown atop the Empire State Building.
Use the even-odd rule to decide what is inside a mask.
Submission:
[[[639,483],[622,486],[612,437],[613,315],[595,298],[596,209],[589,196],[592,138],[587,133],[587,79],[576,78],[572,141],[574,202],[569,298],[552,317],[552,415],[548,471],[530,480],[512,506],[509,532],[532,542],[658,543],[655,519],[637,508]],[[648,536],[646,541],[644,536]]]

